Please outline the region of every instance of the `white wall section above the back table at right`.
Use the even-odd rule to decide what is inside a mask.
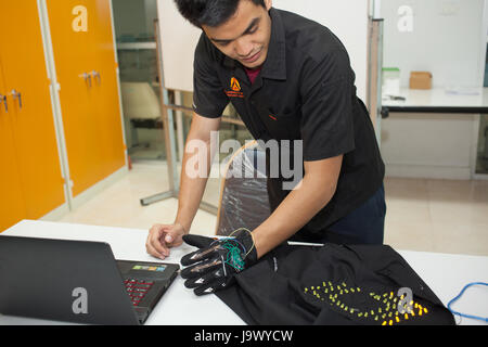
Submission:
[[[400,5],[413,10],[413,30],[397,28]],[[435,87],[480,87],[484,0],[383,0],[384,66],[400,67],[401,86],[411,70],[433,73]]]

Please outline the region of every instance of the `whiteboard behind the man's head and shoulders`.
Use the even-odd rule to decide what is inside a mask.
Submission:
[[[273,7],[295,12],[330,28],[346,47],[356,73],[358,97],[365,101],[368,13],[365,0],[274,0]],[[179,13],[172,0],[158,0],[163,73],[167,89],[193,91],[193,56],[201,29]]]

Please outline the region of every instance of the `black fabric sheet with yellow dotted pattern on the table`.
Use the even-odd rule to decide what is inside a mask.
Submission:
[[[412,296],[400,296],[400,288]],[[454,324],[433,291],[386,245],[282,245],[216,295],[252,325]]]

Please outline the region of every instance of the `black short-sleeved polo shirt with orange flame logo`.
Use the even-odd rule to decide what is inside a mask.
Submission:
[[[241,63],[202,34],[195,50],[193,107],[215,118],[231,102],[256,140],[303,140],[305,162],[344,154],[333,198],[297,233],[313,239],[380,189],[384,164],[338,38],[297,14],[277,9],[269,13],[268,56],[253,85]],[[283,180],[268,179],[272,210],[290,193],[282,189]]]

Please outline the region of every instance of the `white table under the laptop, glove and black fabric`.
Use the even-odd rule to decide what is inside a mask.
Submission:
[[[23,220],[2,234],[107,242],[116,259],[158,261],[145,252],[146,230]],[[188,245],[174,248],[165,262],[179,262],[180,258],[191,250],[193,248]],[[488,282],[488,257],[422,252],[399,253],[445,305],[455,297],[465,284]],[[487,317],[488,288],[473,287],[467,291],[457,303],[455,309]],[[457,321],[460,321],[459,317]],[[65,324],[0,314],[0,325],[60,323]],[[192,291],[183,286],[183,280],[177,278],[145,324],[242,325],[244,321],[215,295],[196,297]],[[463,318],[461,324],[486,323]]]

